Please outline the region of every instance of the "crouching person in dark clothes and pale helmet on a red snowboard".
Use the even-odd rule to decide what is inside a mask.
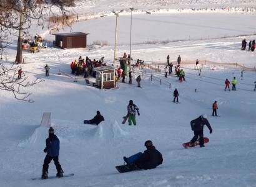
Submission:
[[[210,130],[210,134],[212,134],[212,127],[207,120],[207,115],[202,114],[201,116],[197,117],[190,122],[191,129],[194,131],[194,137],[190,140],[189,147],[195,146],[195,141],[199,137],[199,144],[200,147],[204,147],[204,125],[207,125],[208,129]]]

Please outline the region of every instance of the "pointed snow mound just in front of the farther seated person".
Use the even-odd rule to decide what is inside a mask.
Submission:
[[[117,121],[105,121],[97,125],[96,128],[87,130],[87,135],[100,140],[119,139],[129,133],[122,130]]]

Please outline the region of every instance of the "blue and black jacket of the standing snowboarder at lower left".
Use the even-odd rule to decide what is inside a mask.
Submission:
[[[46,139],[47,155],[50,157],[59,157],[59,139],[55,134],[50,134]]]

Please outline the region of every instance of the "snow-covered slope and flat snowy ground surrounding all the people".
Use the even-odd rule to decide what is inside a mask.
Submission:
[[[119,9],[134,5],[134,1],[81,1],[80,7],[111,10],[113,3]],[[215,2],[214,4],[210,4]],[[255,1],[151,1],[137,2],[142,9],[175,8],[180,4],[195,7],[222,7],[234,4],[241,8],[255,6]],[[164,5],[165,4],[165,5]],[[89,11],[89,10],[87,10]],[[224,16],[225,15],[225,16]],[[188,17],[190,20],[188,20]],[[224,18],[225,17],[225,18]],[[119,17],[119,55],[129,52],[129,16]],[[57,75],[58,68],[69,75],[69,64],[80,55],[112,62],[114,57],[114,19],[104,17],[77,22],[75,31],[90,32],[89,40],[108,40],[109,45],[90,45],[83,48],[61,50],[47,48],[36,54],[24,52],[22,69],[29,79],[45,81],[31,88],[34,103],[24,103],[13,98],[11,93],[0,92],[0,186],[157,186],[157,187],[214,187],[256,186],[255,154],[255,106],[256,93],[254,71],[235,67],[204,65],[202,76],[193,70],[194,65],[184,65],[186,81],[179,83],[175,76],[144,69],[142,89],[133,84],[118,83],[119,89],[97,89],[85,81],[65,75]],[[255,15],[252,14],[140,14],[133,19],[132,57],[151,62],[171,60],[195,60],[199,58],[214,62],[237,62],[255,65],[255,52],[240,50],[244,37],[234,35],[255,34]],[[137,22],[137,23],[136,23]],[[135,29],[142,27],[142,29]],[[180,32],[173,29],[180,27]],[[150,29],[152,28],[152,29]],[[165,29],[167,28],[167,29]],[[82,30],[84,29],[84,30]],[[88,31],[89,30],[89,31]],[[104,30],[104,32],[99,32]],[[147,30],[146,32],[144,30]],[[41,32],[41,30],[38,30]],[[47,33],[47,32],[46,32]],[[214,39],[220,37],[227,39]],[[245,37],[256,39],[256,35]],[[184,40],[170,43],[143,43],[150,40]],[[121,45],[122,44],[122,45]],[[7,60],[15,58],[14,46],[7,51]],[[45,78],[44,65],[50,66],[50,76]],[[145,71],[147,71],[145,75]],[[135,71],[134,78],[141,72]],[[150,74],[155,80],[150,81]],[[224,91],[224,81],[236,76],[237,91]],[[159,83],[159,79],[164,83]],[[174,89],[179,91],[180,104],[172,103]],[[197,92],[195,93],[195,89]],[[127,104],[133,99],[140,109],[137,125],[122,125],[122,116],[127,113]],[[220,117],[212,117],[212,103],[218,101]],[[84,125],[101,111],[105,122],[97,127]],[[75,173],[71,178],[31,181],[42,174],[47,128],[40,127],[43,112],[51,112],[51,123],[61,141],[59,161],[64,174]],[[192,138],[190,121],[207,114],[213,133],[205,127],[204,135],[210,142],[205,148],[185,150],[182,143]],[[122,165],[123,156],[145,149],[145,140],[152,140],[162,153],[164,162],[154,170],[119,174],[114,168]],[[49,176],[56,175],[53,163]]]

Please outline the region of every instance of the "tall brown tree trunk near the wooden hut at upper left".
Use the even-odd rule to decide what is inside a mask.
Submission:
[[[17,40],[17,54],[16,54],[16,63],[22,63],[22,40],[23,40],[23,24],[24,24],[24,1],[21,1],[21,17],[19,22],[21,27],[19,27],[19,39]]]

